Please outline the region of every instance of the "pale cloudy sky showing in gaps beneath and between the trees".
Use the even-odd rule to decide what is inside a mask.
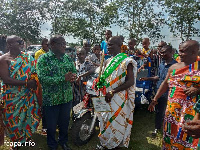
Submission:
[[[200,21],[197,24],[195,24],[195,26],[200,29]],[[49,35],[50,34],[50,29],[51,29],[51,23],[50,22],[47,22],[47,23],[43,24],[41,26],[42,37],[50,38],[50,35]],[[114,26],[113,25],[113,26],[111,26],[110,28],[107,28],[107,29],[110,29],[112,31],[113,36],[115,36],[117,34],[125,36],[125,45],[127,45],[127,43],[128,43],[128,35],[123,34],[124,31],[119,26]],[[165,41],[167,43],[171,43],[171,45],[174,48],[178,49],[178,46],[181,43],[181,39],[178,38],[178,37],[174,37],[167,26],[163,27],[163,29],[161,30],[161,35],[165,35],[165,38],[160,39],[159,41],[163,40],[163,41]],[[147,36],[144,35],[144,37],[147,37]],[[193,40],[197,40],[198,42],[200,42],[200,37],[192,37],[192,39]],[[74,39],[72,36],[65,37],[65,40],[67,42],[69,42],[69,43],[77,43],[78,42],[78,39]],[[151,41],[151,39],[150,39],[150,41]],[[156,43],[152,43],[151,42],[150,46],[152,46],[152,47],[153,46],[157,46],[159,41],[156,42]],[[138,45],[138,48],[141,48],[141,47],[142,47],[142,45],[140,43]]]

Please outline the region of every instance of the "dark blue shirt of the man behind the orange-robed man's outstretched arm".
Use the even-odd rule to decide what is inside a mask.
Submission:
[[[157,82],[157,90],[159,89],[161,83],[165,80],[166,76],[167,76],[167,72],[168,72],[168,69],[171,65],[177,63],[177,61],[175,61],[174,59],[172,59],[172,61],[170,63],[165,63],[165,61],[162,61],[159,65],[159,68],[158,68],[158,77],[159,77],[159,80]],[[163,97],[167,97],[168,96],[168,91],[165,92],[163,95]]]

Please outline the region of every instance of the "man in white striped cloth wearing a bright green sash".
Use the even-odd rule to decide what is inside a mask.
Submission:
[[[137,63],[125,53],[120,53],[122,41],[114,36],[108,41],[113,56],[105,63],[97,87],[103,90],[111,112],[98,114],[100,145],[96,149],[128,147],[133,124]]]

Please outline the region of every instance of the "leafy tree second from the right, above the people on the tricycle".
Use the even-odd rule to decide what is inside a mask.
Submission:
[[[141,41],[147,36],[151,41],[163,37],[161,33],[164,24],[162,12],[155,12],[159,5],[155,0],[115,0],[118,5],[117,24],[128,32],[129,38]]]

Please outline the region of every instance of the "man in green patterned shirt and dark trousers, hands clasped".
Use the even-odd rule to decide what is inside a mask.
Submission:
[[[68,125],[73,93],[71,82],[76,79],[76,69],[65,54],[66,41],[62,36],[50,39],[51,51],[43,54],[37,62],[37,71],[42,85],[43,106],[47,123],[47,144],[51,150],[58,143],[63,150],[67,145]],[[59,140],[55,140],[56,126],[59,126]]]

